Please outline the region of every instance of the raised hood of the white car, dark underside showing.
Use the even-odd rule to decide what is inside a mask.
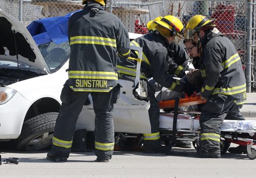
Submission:
[[[0,59],[24,62],[35,68],[50,73],[31,34],[18,19],[0,9]]]

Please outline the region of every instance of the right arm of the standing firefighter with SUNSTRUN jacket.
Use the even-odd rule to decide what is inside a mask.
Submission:
[[[116,46],[119,57],[126,59],[130,56],[129,34],[121,20],[119,20],[119,30],[116,33]]]

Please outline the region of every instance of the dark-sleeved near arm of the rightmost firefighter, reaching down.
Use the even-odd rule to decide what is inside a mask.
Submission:
[[[209,98],[217,84],[220,73],[223,70],[221,66],[222,55],[219,48],[204,49],[205,78],[201,88],[203,99]]]

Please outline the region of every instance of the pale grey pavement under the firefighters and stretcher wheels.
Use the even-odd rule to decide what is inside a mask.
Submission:
[[[256,119],[256,93],[247,94],[241,113]],[[0,177],[255,177],[256,160],[246,154],[222,154],[220,159],[196,157],[195,149],[173,148],[173,155],[140,151],[114,151],[109,163],[96,163],[94,152],[72,152],[68,162],[46,160],[48,150],[18,152],[0,142],[2,162],[19,158],[19,164],[0,165]],[[231,146],[237,146],[232,144]],[[253,146],[255,148],[255,146]]]

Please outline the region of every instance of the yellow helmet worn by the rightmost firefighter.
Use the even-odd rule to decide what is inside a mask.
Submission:
[[[196,32],[205,27],[215,27],[214,23],[216,19],[209,19],[203,15],[194,15],[191,17],[185,28],[185,39],[191,38]]]

